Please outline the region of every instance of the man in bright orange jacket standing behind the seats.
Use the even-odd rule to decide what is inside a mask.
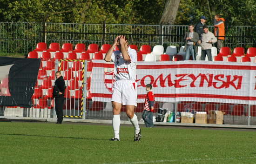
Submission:
[[[214,16],[213,25],[214,25],[214,34],[217,38],[217,49],[220,52],[221,47],[223,47],[223,40],[225,39],[225,26],[224,18],[220,18],[220,14]]]

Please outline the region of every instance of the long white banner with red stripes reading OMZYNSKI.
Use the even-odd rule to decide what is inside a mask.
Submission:
[[[114,64],[93,60],[91,96],[109,102]],[[151,84],[156,101],[197,101],[256,105],[256,63],[223,61],[138,62],[138,103]]]

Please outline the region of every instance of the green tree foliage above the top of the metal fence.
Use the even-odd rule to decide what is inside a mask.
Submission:
[[[0,21],[158,25],[165,0],[0,0]],[[175,24],[212,25],[216,13],[226,25],[256,24],[256,0],[180,0]],[[168,14],[167,14],[168,15]]]

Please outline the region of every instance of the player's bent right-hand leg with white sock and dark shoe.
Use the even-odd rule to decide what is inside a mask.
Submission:
[[[141,129],[139,127],[138,118],[137,118],[136,114],[134,113],[134,108],[135,108],[135,105],[126,105],[126,114],[127,114],[128,118],[130,118],[130,121],[135,128],[134,141],[140,141]]]

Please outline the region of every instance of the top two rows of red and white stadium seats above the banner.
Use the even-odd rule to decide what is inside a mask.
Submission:
[[[164,52],[164,47],[161,45],[156,45],[153,47],[153,51],[151,52],[151,47],[149,45],[142,45],[140,47],[140,51],[138,51],[137,45],[129,45],[131,48],[137,51],[137,59],[138,61],[177,61],[173,59],[173,57],[178,54],[182,55],[182,60],[185,59],[185,52],[183,52],[184,46],[182,46],[177,53],[176,46],[168,46],[166,52]],[[51,43],[49,48],[47,49],[46,43],[40,42],[37,44],[34,52],[29,52],[28,58],[41,58],[43,60],[46,59],[81,59],[81,60],[90,60],[90,59],[104,59],[105,54],[108,52],[111,45],[104,44],[101,46],[100,51],[98,50],[97,44],[90,44],[88,49],[86,50],[86,46],[84,44],[77,44],[73,50],[73,46],[71,43],[64,43],[62,48],[60,49],[59,43]],[[118,50],[118,47],[115,47],[115,51]],[[200,60],[202,54],[201,46],[198,46],[198,54],[197,60]],[[163,55],[165,54],[165,55]],[[168,57],[168,56],[169,57]],[[215,56],[221,56],[216,57]],[[229,47],[222,47],[220,53],[217,54],[216,47],[212,47],[212,60],[214,61],[238,61],[245,62],[249,61],[249,58],[244,58],[244,48],[236,47],[231,54]],[[256,56],[256,48],[251,47],[247,50],[246,56],[250,57],[250,61],[255,61]],[[161,57],[161,58],[160,58]],[[227,59],[230,57],[229,59]],[[178,60],[181,60],[179,57]],[[208,58],[206,57],[206,60]]]

